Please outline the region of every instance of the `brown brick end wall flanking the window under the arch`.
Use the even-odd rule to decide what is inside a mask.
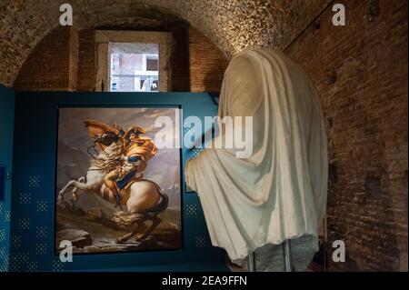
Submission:
[[[198,30],[173,33],[171,91],[219,92],[227,65],[223,53]],[[18,91],[95,90],[95,29],[57,28],[29,55],[14,88]]]

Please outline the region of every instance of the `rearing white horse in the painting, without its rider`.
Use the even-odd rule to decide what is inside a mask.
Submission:
[[[91,161],[86,177],[71,180],[60,190],[57,199],[58,205],[65,204],[64,194],[71,186],[74,186],[72,190],[73,203],[78,199],[78,189],[80,189],[85,194],[99,195],[109,203],[115,204],[115,196],[105,186],[104,177],[116,166],[122,164],[121,156],[124,148],[121,140],[115,140],[109,135],[103,137],[106,144],[104,150],[101,150],[98,156]],[[168,196],[162,193],[160,187],[153,181],[138,179],[131,185],[126,186],[120,201],[120,207],[125,209],[125,213],[115,214],[113,220],[117,225],[136,224],[136,227],[132,233],[116,239],[116,242],[124,243],[137,233],[142,233],[146,229],[145,221],[151,220],[152,225],[139,238],[141,241],[144,240],[161,223],[162,220],[157,215],[165,211],[167,205]]]

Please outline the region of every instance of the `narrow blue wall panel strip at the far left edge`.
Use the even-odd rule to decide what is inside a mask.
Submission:
[[[0,200],[0,272],[8,270],[15,93],[0,85],[0,166],[4,168],[4,198]]]

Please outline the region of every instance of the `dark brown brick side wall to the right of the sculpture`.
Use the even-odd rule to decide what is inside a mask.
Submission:
[[[285,50],[326,118],[328,241],[347,249],[329,269],[407,271],[407,1],[343,3],[345,26],[330,7]]]

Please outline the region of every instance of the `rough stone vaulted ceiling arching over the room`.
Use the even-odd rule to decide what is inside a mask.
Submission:
[[[69,3],[78,28],[113,19],[175,15],[209,37],[227,57],[244,48],[283,49],[330,0],[1,0],[0,83],[11,86],[25,58],[59,25]],[[160,12],[155,15],[155,11]]]

